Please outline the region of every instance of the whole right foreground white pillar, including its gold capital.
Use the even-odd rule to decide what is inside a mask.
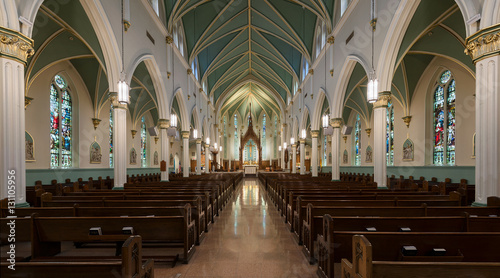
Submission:
[[[466,53],[476,65],[476,197],[485,206],[500,196],[500,25],[467,38]]]

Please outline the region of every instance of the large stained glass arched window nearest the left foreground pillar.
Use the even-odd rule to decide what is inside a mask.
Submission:
[[[50,84],[50,167],[72,165],[72,115],[68,83],[56,75]]]

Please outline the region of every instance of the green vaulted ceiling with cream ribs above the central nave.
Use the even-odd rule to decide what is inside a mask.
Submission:
[[[334,14],[334,0],[164,0],[164,4],[169,30],[182,23],[188,62],[198,59],[200,83],[206,82],[206,93],[214,103],[228,92],[245,92],[243,99],[279,96],[281,100],[274,102],[287,103],[299,80],[302,59],[311,62],[318,20],[331,30]],[[245,80],[261,85],[241,86]],[[242,91],[234,90],[240,86]],[[226,102],[237,99],[242,98],[231,96]],[[264,101],[261,104],[264,110],[273,109]]]

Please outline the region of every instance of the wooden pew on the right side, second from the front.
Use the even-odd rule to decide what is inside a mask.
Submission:
[[[464,262],[500,261],[500,253],[495,251],[500,244],[500,232],[336,232],[333,226],[335,224],[329,215],[324,216],[323,224],[325,225],[323,233],[318,236],[320,277],[334,277],[334,263],[340,262],[342,258],[352,257],[354,235],[364,235],[373,245],[380,246],[373,253],[373,258],[376,260],[395,260],[403,246],[413,245],[420,252],[428,252],[432,248],[444,248],[447,250],[447,255],[459,257],[460,261]],[[405,257],[400,258],[405,259]]]

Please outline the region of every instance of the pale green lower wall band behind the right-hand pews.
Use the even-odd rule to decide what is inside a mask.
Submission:
[[[415,179],[424,177],[430,180],[436,177],[438,181],[444,181],[445,178],[451,178],[452,182],[460,182],[460,179],[466,179],[469,184],[475,183],[475,166],[387,166],[387,175],[405,178],[413,176]],[[322,173],[332,171],[332,167],[321,168]],[[340,172],[373,174],[372,166],[341,166]]]

